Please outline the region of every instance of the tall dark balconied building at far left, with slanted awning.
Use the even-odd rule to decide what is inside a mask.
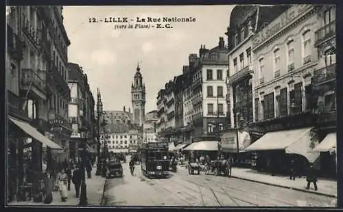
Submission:
[[[10,7],[7,16],[8,200],[38,194],[52,159],[69,157],[67,47],[60,6]]]

